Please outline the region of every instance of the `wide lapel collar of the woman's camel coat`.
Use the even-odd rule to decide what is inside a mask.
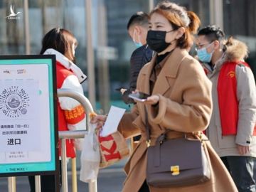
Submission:
[[[156,79],[154,90],[152,92],[152,95],[154,94],[161,94],[164,95],[164,93],[169,89],[169,78],[176,78],[178,75],[178,68],[181,64],[181,61],[183,58],[188,55],[188,52],[181,48],[174,49],[170,55],[167,55],[168,58],[165,60],[165,64],[163,68],[161,69],[161,72]],[[151,75],[151,71],[154,68],[154,63],[156,62],[156,55],[154,55],[154,58],[149,63],[148,68],[146,70],[143,70],[142,75],[144,78],[144,84],[142,87],[142,92],[149,93],[149,78]]]

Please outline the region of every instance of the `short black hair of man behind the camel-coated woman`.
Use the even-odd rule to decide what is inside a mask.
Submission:
[[[134,24],[139,26],[146,26],[149,24],[149,15],[143,11],[139,11],[136,14],[133,14],[127,23],[127,30]]]

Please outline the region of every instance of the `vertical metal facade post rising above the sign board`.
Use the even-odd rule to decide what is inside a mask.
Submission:
[[[24,6],[26,55],[29,55],[31,53],[31,46],[30,46],[30,35],[29,35],[28,0],[24,0],[23,6]]]

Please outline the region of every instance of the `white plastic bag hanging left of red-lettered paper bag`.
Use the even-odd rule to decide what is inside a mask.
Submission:
[[[100,149],[95,134],[96,124],[90,124],[90,132],[82,143],[80,181],[96,181],[100,168]]]

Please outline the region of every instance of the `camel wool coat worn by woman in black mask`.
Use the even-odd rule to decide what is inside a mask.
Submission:
[[[149,77],[156,56],[144,65],[137,80],[137,90],[150,94]],[[156,79],[151,95],[159,95],[159,104],[146,105],[151,145],[156,138],[170,129],[167,137],[181,132],[200,132],[206,129],[212,112],[211,83],[200,63],[184,49],[176,48],[164,58],[163,68]],[[142,138],[124,167],[127,178],[123,192],[137,192],[146,179],[145,105],[137,102],[132,112],[124,114],[118,130],[125,138],[142,134]],[[179,134],[178,134],[179,133]],[[207,139],[207,138],[206,138]],[[211,179],[203,184],[176,188],[154,188],[151,192],[227,192],[237,191],[232,178],[209,142],[203,145],[210,159]],[[191,157],[189,157],[191,158]],[[188,159],[189,161],[189,159]]]

